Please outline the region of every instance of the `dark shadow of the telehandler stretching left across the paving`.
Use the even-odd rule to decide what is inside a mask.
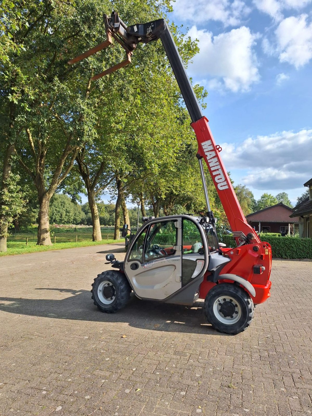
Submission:
[[[36,290],[68,293],[64,299],[23,299],[0,297],[0,310],[15,314],[74,319],[93,322],[124,322],[131,327],[161,330],[167,332],[186,332],[197,334],[225,335],[216,332],[199,305],[194,307],[170,305],[155,301],[139,300],[133,294],[126,308],[115,314],[101,313],[91,299],[89,290],[60,288],[37,288]]]

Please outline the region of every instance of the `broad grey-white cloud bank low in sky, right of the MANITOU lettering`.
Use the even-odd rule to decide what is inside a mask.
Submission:
[[[255,189],[294,189],[311,178],[312,130],[282,131],[220,146],[225,166],[247,169],[242,181]]]

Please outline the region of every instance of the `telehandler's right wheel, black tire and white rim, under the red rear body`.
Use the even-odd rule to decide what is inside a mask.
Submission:
[[[218,300],[220,302],[217,302]],[[233,283],[220,283],[210,289],[205,299],[204,310],[213,328],[225,334],[245,331],[254,315],[253,300],[245,290]],[[232,319],[234,323],[231,322]]]

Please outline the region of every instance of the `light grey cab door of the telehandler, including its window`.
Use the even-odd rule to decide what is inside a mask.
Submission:
[[[124,271],[138,297],[164,300],[181,289],[181,223],[155,220],[131,243]]]

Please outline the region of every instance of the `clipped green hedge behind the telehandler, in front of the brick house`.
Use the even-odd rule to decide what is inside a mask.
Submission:
[[[271,235],[265,235],[262,241],[266,241],[271,245],[273,258],[312,258],[312,238],[272,237]],[[223,243],[227,247],[236,247],[232,235],[223,235]]]

